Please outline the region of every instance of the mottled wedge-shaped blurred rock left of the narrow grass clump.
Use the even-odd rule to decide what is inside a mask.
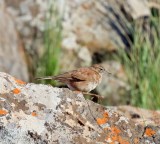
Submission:
[[[44,53],[44,31],[50,0],[5,0],[7,12],[14,17],[27,53],[30,80],[33,81],[39,58]]]

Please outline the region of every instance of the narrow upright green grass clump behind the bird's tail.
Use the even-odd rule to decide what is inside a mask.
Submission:
[[[49,12],[46,14],[44,32],[44,54],[39,60],[37,77],[51,76],[59,73],[59,59],[61,54],[62,25],[55,0],[48,4]],[[54,81],[44,80],[41,83],[55,85]]]

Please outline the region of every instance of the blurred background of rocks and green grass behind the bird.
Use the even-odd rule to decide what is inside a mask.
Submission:
[[[36,82],[96,63],[104,105],[160,109],[160,0],[0,0],[0,71]]]

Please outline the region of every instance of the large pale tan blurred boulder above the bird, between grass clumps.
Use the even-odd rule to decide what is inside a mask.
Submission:
[[[130,18],[150,16],[150,8],[146,0],[72,0],[66,1],[64,13],[63,41],[76,35],[78,45],[97,52],[128,47]]]

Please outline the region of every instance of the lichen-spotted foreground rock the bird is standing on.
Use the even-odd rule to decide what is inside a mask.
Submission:
[[[81,93],[24,83],[0,73],[2,144],[155,143],[158,126],[139,125]]]

